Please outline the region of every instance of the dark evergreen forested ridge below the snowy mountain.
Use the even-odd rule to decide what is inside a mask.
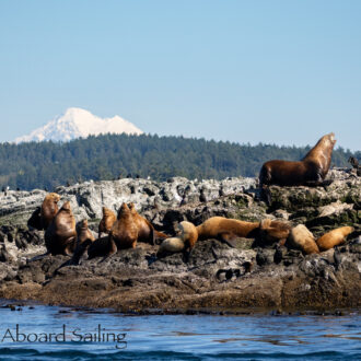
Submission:
[[[261,164],[271,159],[300,160],[310,150],[217,142],[183,137],[104,135],[65,143],[28,142],[0,144],[0,187],[54,189],[88,179],[150,176],[225,178],[258,176]],[[334,150],[333,165],[349,166],[348,158],[361,158],[341,148]]]

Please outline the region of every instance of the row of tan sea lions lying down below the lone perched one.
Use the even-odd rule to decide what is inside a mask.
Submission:
[[[315,241],[314,235],[303,224],[292,226],[284,221],[264,219],[260,222],[245,222],[223,217],[212,217],[200,225],[183,221],[178,235],[166,238],[160,246],[159,256],[168,253],[186,252],[188,255],[198,240],[219,238],[231,246],[237,237],[256,238],[259,245],[277,243],[279,246],[301,249],[304,254],[328,251],[345,243],[352,233],[352,226],[341,226],[325,233]]]

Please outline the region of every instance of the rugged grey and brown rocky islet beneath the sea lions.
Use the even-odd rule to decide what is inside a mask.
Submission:
[[[77,221],[97,230],[102,206],[118,209],[132,201],[141,216],[170,235],[184,220],[200,224],[213,216],[305,224],[315,236],[342,225],[354,232],[343,245],[315,255],[237,238],[232,248],[218,240],[198,241],[189,259],[156,257],[156,246],[139,243],[101,261],[44,253],[44,232],[26,222],[45,191],[0,195],[0,298],[45,304],[108,307],[140,313],[242,313],[247,310],[339,310],[361,305],[361,177],[331,170],[327,187],[271,186],[271,205],[258,199],[255,178],[188,180],[175,177],[85,182],[55,189],[71,202]]]

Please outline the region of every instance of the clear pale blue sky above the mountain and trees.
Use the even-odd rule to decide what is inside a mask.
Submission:
[[[361,150],[361,1],[0,0],[0,141],[68,107],[145,132]]]

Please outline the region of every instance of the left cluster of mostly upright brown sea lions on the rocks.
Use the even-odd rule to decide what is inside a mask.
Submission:
[[[70,202],[66,201],[59,209],[60,196],[56,193],[46,195],[42,207],[36,209],[27,224],[38,230],[45,230],[44,255],[73,255],[72,263],[79,263],[80,257],[88,251],[90,258],[95,256],[112,256],[118,249],[135,248],[137,242],[154,245],[156,238],[166,238],[167,235],[159,232],[143,217],[133,203],[123,203],[116,216],[110,209],[103,207],[103,218],[98,224],[98,238],[88,228],[88,220],[82,220],[78,226],[71,211]],[[102,233],[107,237],[102,238]]]

